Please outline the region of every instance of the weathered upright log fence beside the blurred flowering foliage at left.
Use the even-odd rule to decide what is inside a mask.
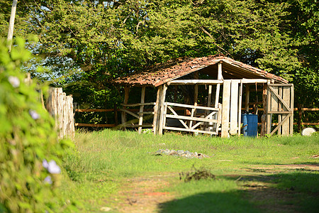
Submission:
[[[47,111],[55,118],[58,138],[74,137],[73,98],[62,92],[62,88],[50,88],[46,104]]]

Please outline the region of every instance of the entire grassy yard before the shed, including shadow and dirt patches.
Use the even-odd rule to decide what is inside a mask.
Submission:
[[[318,212],[319,136],[77,133],[62,192],[80,212]],[[210,158],[155,155],[184,150]],[[215,179],[184,182],[194,168]]]

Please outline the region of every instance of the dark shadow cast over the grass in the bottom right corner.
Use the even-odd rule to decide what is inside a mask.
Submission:
[[[244,189],[181,197],[159,204],[159,212],[318,212],[319,209],[319,173],[297,171],[218,179],[234,180]]]

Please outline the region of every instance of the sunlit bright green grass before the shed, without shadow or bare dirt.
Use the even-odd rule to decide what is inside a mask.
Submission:
[[[74,139],[76,148],[65,156],[64,167],[69,177],[65,180],[65,196],[70,196],[84,203],[86,211],[97,211],[99,206],[116,196],[118,189],[126,178],[162,173],[176,174],[170,179],[169,190],[174,192],[180,203],[167,203],[165,208],[188,202],[187,197],[201,194],[210,200],[230,199],[239,203],[239,212],[247,210],[247,201],[240,198],[240,184],[227,175],[269,175],[263,170],[252,170],[254,167],[286,164],[315,164],[318,159],[310,158],[318,154],[319,137],[272,137],[272,138],[217,138],[209,136],[187,136],[176,133],[165,133],[163,136],[152,134],[138,134],[133,131],[96,131],[77,133]],[[159,149],[184,150],[204,153],[211,158],[187,159],[170,155],[154,155]],[[184,183],[177,180],[180,172],[204,167],[214,175],[216,180]],[[295,171],[295,170],[294,170]],[[283,172],[274,168],[272,173]],[[291,174],[293,171],[284,170]],[[303,171],[301,171],[303,173]],[[303,182],[307,178],[318,178],[318,173],[310,172],[310,176],[291,175],[276,180],[279,188],[289,188],[293,185],[293,178]],[[299,177],[299,178],[298,178]],[[276,178],[276,177],[272,177]],[[302,179],[302,180],[301,180]],[[300,187],[300,185],[299,185]],[[301,192],[310,191],[310,185],[302,188]],[[317,188],[315,188],[317,190]],[[200,197],[201,202],[207,202]],[[306,202],[304,202],[306,203]],[[113,203],[113,205],[116,205]],[[220,208],[227,207],[222,202]],[[248,212],[255,212],[253,204],[249,205]],[[175,209],[175,212],[178,209]],[[172,212],[174,212],[172,211]],[[230,211],[232,212],[232,211]]]

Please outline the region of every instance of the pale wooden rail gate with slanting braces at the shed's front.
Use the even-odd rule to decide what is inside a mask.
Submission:
[[[173,109],[173,107],[180,107],[185,109],[191,109],[191,116],[182,116],[177,114],[177,112]],[[167,110],[168,109],[168,110]],[[197,109],[201,109],[205,111],[205,116],[196,117],[194,116],[194,111]],[[163,129],[175,130],[175,131],[189,131],[195,133],[208,133],[217,135],[218,134],[218,126],[220,125],[221,117],[220,117],[220,108],[213,107],[200,107],[195,105],[187,105],[187,104],[177,104],[177,103],[164,103],[164,121],[163,121]],[[217,117],[218,119],[213,119],[213,117]],[[173,127],[167,124],[167,118],[169,119],[177,119],[182,127]],[[203,125],[203,124],[206,125]],[[213,125],[215,124],[215,125]],[[207,131],[205,129],[200,129],[200,126],[217,126],[215,131]]]

